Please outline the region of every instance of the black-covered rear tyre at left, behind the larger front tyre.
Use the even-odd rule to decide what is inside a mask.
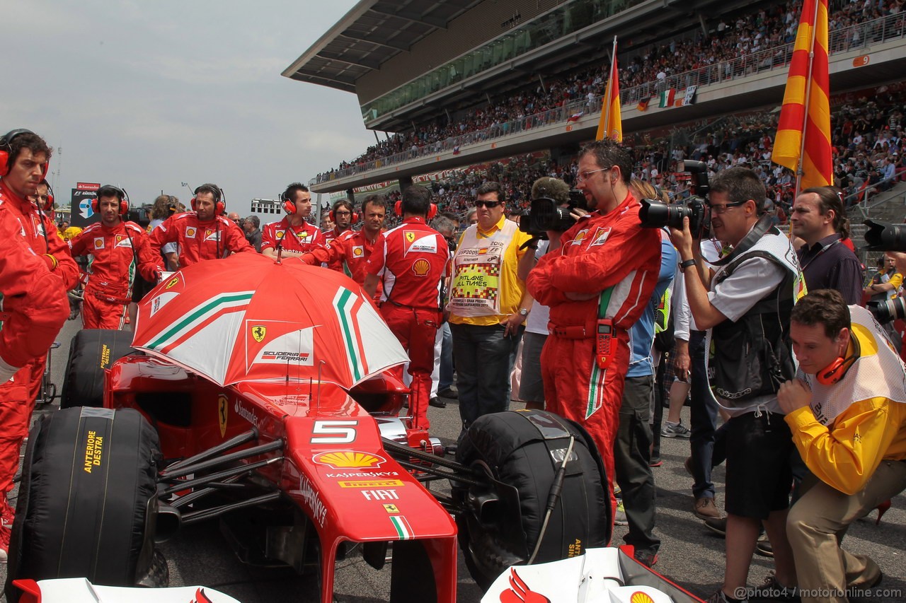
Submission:
[[[82,329],[72,338],[61,408],[104,406],[104,370],[135,352],[128,330]]]

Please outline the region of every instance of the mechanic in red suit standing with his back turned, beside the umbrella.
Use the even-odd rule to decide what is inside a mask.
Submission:
[[[442,317],[449,249],[443,235],[427,224],[438,211],[427,188],[410,185],[395,209],[402,214],[402,224],[378,239],[368,258],[364,290],[373,296],[378,282],[383,284],[381,316],[409,352],[412,426],[428,429],[434,339]]]

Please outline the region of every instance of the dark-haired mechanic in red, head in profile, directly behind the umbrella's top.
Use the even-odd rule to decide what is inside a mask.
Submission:
[[[279,247],[282,257],[299,257],[323,247],[324,235],[305,221],[312,215],[312,194],[308,192],[308,187],[294,182],[286,187],[281,198],[286,217],[280,222],[265,225],[261,232],[261,253],[276,257]]]

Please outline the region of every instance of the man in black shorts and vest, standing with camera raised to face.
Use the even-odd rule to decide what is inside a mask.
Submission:
[[[776,575],[769,586],[782,589],[796,579],[786,539],[793,444],[776,392],[795,375],[786,336],[800,273],[789,239],[765,215],[765,198],[764,184],[750,169],[728,168],[715,178],[708,195],[711,225],[734,249],[715,263],[713,277],[690,216],[683,216],[681,230],[670,229],[689,309],[699,329],[708,330],[708,386],[731,416],[726,570],[723,588],[709,599],[717,603],[737,600],[746,588],[762,522],[774,547]]]

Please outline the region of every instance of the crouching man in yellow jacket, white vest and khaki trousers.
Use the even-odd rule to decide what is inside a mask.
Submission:
[[[846,601],[871,589],[878,564],[840,547],[855,520],[906,485],[906,369],[872,315],[834,290],[810,292],[793,310],[799,378],[777,394],[812,474],[786,522],[803,601]]]

